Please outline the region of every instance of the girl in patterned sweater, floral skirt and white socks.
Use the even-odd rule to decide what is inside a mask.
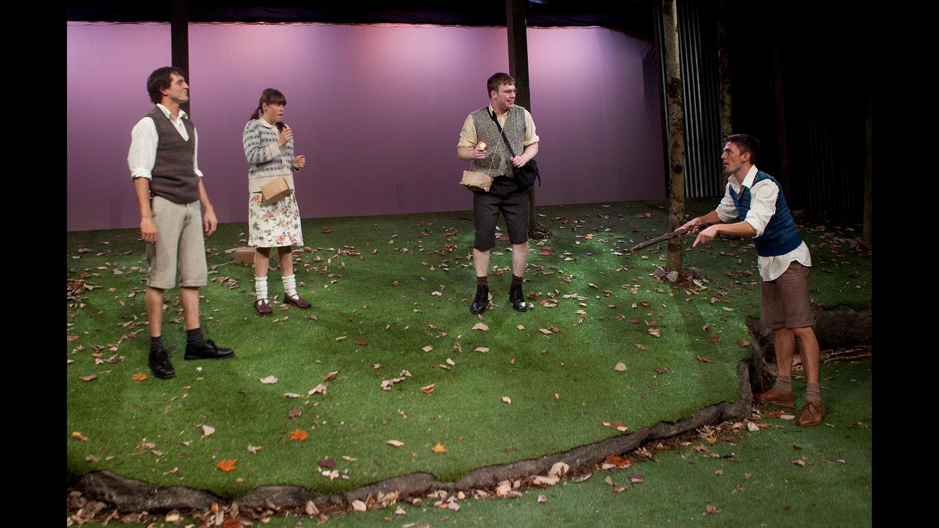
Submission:
[[[248,171],[248,245],[254,246],[254,310],[259,316],[272,312],[268,301],[268,268],[270,248],[277,248],[282,278],[284,303],[307,309],[310,303],[297,294],[297,277],[293,269],[290,246],[303,245],[300,230],[300,209],[294,196],[293,173],[300,172],[306,156],[294,156],[293,131],[286,126],[284,107],[287,100],[280,91],[264,90],[257,109],[244,127],[244,155],[251,163]],[[283,177],[290,194],[277,202],[267,203],[261,186]]]

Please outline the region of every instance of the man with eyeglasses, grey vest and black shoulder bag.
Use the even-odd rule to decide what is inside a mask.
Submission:
[[[488,192],[473,193],[473,227],[476,238],[472,257],[476,270],[476,295],[469,311],[481,314],[489,302],[489,251],[496,245],[499,213],[512,242],[512,285],[509,302],[519,312],[529,309],[522,294],[522,281],[528,266],[529,198],[519,188],[515,167],[529,163],[538,153],[538,135],[528,110],[516,105],[516,80],[507,73],[495,73],[486,81],[489,105],[469,114],[460,132],[456,156],[473,163],[473,170],[493,177]],[[497,125],[498,122],[498,125]],[[501,130],[501,132],[500,132]],[[504,138],[503,133],[504,132]],[[511,152],[505,142],[511,145]]]

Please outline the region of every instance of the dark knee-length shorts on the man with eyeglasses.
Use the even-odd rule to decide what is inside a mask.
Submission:
[[[492,180],[488,193],[473,193],[472,211],[473,227],[476,228],[474,249],[488,251],[495,247],[496,221],[500,212],[509,231],[509,241],[514,244],[528,241],[528,190],[519,190],[515,178],[497,177]]]

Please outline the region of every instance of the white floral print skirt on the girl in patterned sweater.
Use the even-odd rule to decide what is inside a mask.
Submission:
[[[261,194],[252,193],[248,199],[248,231],[248,245],[253,247],[303,245],[300,209],[294,194],[265,206]]]

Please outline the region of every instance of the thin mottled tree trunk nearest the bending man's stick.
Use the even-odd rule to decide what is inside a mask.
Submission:
[[[665,41],[665,97],[669,121],[669,230],[685,224],[685,113],[682,109],[682,69],[678,50],[678,9],[676,0],[662,0]],[[685,245],[681,238],[669,241],[665,269],[682,269]]]

